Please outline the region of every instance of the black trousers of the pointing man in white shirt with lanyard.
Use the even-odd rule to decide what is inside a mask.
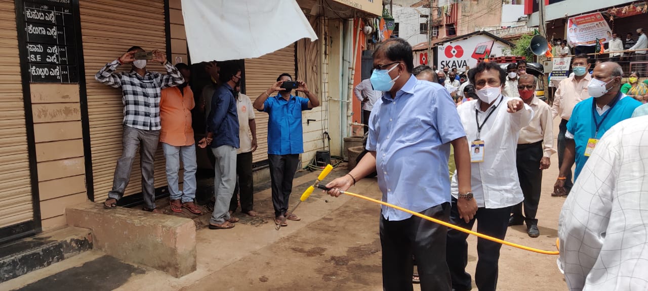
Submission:
[[[477,232],[498,239],[504,239],[506,230],[509,226],[509,217],[511,216],[511,206],[505,208],[478,208],[477,213],[469,223],[459,219],[457,211],[457,199],[452,199],[452,208],[450,209],[450,223],[461,226],[468,230],[472,229],[475,221]],[[446,243],[446,253],[448,253],[447,262],[452,276],[452,290],[465,291],[472,288],[470,274],[466,273],[468,264],[468,242],[466,238],[468,233],[459,232],[458,230],[448,230],[448,242]],[[488,241],[486,239],[477,239],[477,269],[475,270],[475,283],[480,291],[494,291],[497,288],[498,262],[500,261],[500,248],[502,244]]]

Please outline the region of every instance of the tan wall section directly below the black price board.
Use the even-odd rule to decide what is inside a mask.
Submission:
[[[65,225],[65,208],[87,200],[78,84],[32,83],[43,230]]]

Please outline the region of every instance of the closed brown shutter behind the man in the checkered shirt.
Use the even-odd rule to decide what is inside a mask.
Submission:
[[[119,58],[133,45],[145,50],[165,50],[165,12],[162,0],[79,1],[81,32],[87,80],[87,107],[90,124],[95,201],[108,197],[117,159],[122,152],[123,104],[121,89],[95,81],[106,63]],[[146,69],[165,73],[159,63]],[[130,70],[130,65],[120,70]],[[156,153],[155,186],[167,185],[165,159],[161,147]],[[124,195],[141,192],[139,155],[135,158]]]

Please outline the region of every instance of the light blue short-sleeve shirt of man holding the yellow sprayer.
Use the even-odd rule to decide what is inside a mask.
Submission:
[[[446,89],[410,80],[395,98],[385,92],[369,117],[367,150],[376,152],[382,200],[421,212],[450,202],[450,142],[466,136],[455,103]],[[382,207],[389,221],[409,213]]]

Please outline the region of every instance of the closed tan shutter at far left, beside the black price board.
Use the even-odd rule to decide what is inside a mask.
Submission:
[[[34,219],[12,0],[0,0],[0,58],[0,228],[5,228]]]

